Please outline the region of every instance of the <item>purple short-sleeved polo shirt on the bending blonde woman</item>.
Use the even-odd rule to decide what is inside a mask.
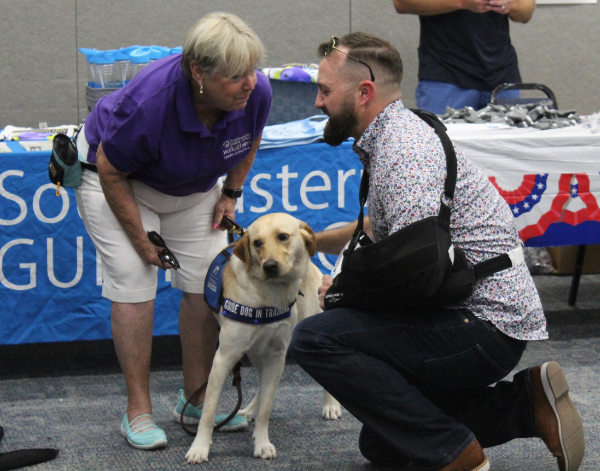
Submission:
[[[98,100],[85,122],[88,161],[102,142],[117,169],[168,195],[210,190],[246,157],[262,133],[271,107],[269,79],[256,87],[243,110],[227,112],[212,130],[198,118],[181,54],[142,69],[124,88]]]

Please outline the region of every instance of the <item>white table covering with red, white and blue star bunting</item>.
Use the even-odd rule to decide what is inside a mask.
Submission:
[[[600,243],[600,134],[448,125],[510,205],[529,247]]]

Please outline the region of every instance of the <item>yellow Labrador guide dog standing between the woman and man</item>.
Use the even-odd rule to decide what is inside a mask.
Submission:
[[[322,275],[310,261],[315,254],[315,236],[305,222],[283,213],[262,216],[237,241],[233,254],[223,270],[224,302],[217,316],[219,348],[198,432],[185,455],[189,463],[208,461],[225,379],[244,354],[258,372],[259,390],[239,413],[249,422],[256,419],[254,456],[275,458],[275,447],[269,441],[269,416],[292,331],[304,317],[321,311],[318,288]],[[324,391],[323,417],[340,416],[340,404]]]

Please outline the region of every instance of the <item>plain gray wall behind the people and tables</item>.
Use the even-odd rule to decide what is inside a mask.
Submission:
[[[404,61],[405,104],[415,104],[419,21],[396,14],[392,0],[0,0],[0,127],[76,124],[87,115],[78,47],[178,46],[196,20],[218,10],[258,33],[264,66],[316,62],[316,46],[332,35],[384,37]],[[524,82],[548,85],[561,109],[600,111],[598,4],[540,5],[511,33]]]

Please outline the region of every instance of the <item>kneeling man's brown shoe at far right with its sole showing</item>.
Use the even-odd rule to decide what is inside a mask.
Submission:
[[[558,363],[529,370],[539,437],[558,461],[560,471],[577,471],[585,454],[579,412],[569,398],[569,384]]]

